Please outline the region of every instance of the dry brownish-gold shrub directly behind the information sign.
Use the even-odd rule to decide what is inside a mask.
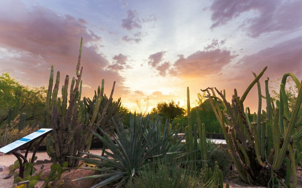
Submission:
[[[38,126],[30,127],[25,126],[19,131],[20,115],[18,115],[10,125],[6,125],[5,128],[0,129],[0,147],[3,147],[11,142],[14,142],[30,133],[33,133],[39,129]]]

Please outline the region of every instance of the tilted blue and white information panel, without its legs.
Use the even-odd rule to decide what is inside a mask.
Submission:
[[[48,134],[52,130],[53,130],[52,128],[41,128],[40,130],[37,130],[37,131],[35,131],[35,132],[33,132],[33,133],[23,137],[23,138],[20,138],[17,141],[14,141],[14,142],[12,142],[12,143],[4,146],[4,147],[1,147],[0,152],[6,154],[6,153],[8,153],[8,152],[24,145],[24,144],[26,144],[28,142],[31,142],[31,141],[35,140],[35,138],[41,137],[45,134]]]

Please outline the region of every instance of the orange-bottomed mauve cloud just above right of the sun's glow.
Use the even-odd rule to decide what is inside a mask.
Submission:
[[[169,71],[172,75],[184,77],[204,77],[219,73],[223,66],[230,63],[237,55],[232,55],[229,50],[214,49],[197,51],[188,57],[178,55],[178,60]]]

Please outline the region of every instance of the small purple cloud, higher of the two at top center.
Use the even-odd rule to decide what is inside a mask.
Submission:
[[[127,11],[127,18],[122,19],[122,28],[127,29],[128,31],[132,30],[133,28],[142,28],[140,24],[140,18],[137,16],[136,10],[128,10]]]

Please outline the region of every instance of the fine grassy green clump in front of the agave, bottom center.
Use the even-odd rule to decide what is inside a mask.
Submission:
[[[138,176],[129,181],[129,188],[189,188],[205,187],[205,178],[201,172],[190,171],[182,167],[181,162],[174,164],[166,160],[146,164]],[[207,181],[207,180],[205,180]]]

